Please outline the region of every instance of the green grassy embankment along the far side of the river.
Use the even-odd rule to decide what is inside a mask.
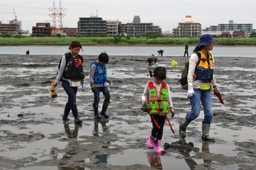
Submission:
[[[197,44],[199,39],[147,39],[146,37],[122,37],[120,42],[115,43],[113,37],[24,37],[22,39],[0,37],[0,45],[69,45],[71,41],[78,40],[82,45],[116,45],[116,44],[165,44],[184,45]],[[217,38],[217,45],[256,45],[256,38],[228,39]]]

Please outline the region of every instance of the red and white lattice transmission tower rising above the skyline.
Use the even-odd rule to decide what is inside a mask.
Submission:
[[[48,8],[52,13],[49,14],[49,16],[52,18],[49,21],[46,22],[50,22],[52,21],[52,33],[51,35],[57,35],[57,33],[63,33],[63,20],[62,18],[66,15],[64,14],[62,11],[65,11],[66,9],[61,7],[61,2],[60,2],[60,6],[59,7],[55,7],[55,3],[53,1],[53,7]],[[57,19],[56,19],[57,18]],[[58,27],[56,27],[56,23],[58,24]]]

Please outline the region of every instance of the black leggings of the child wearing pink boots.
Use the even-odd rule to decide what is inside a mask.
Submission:
[[[152,125],[153,125],[153,129],[151,131],[151,135],[152,137],[156,137],[156,140],[162,140],[162,137],[163,137],[163,126],[164,126],[164,123],[166,122],[166,116],[160,116],[158,114],[153,114],[151,115],[151,122],[152,122]],[[158,124],[158,126],[160,126],[160,129],[158,128],[158,126],[156,125],[156,123]]]

